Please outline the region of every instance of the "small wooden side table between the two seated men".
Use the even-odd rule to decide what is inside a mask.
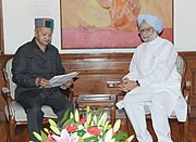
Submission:
[[[91,109],[98,109],[99,107],[109,109],[110,121],[113,125],[115,122],[115,103],[117,94],[82,94],[76,100],[76,107],[81,112],[84,112],[87,106]]]

